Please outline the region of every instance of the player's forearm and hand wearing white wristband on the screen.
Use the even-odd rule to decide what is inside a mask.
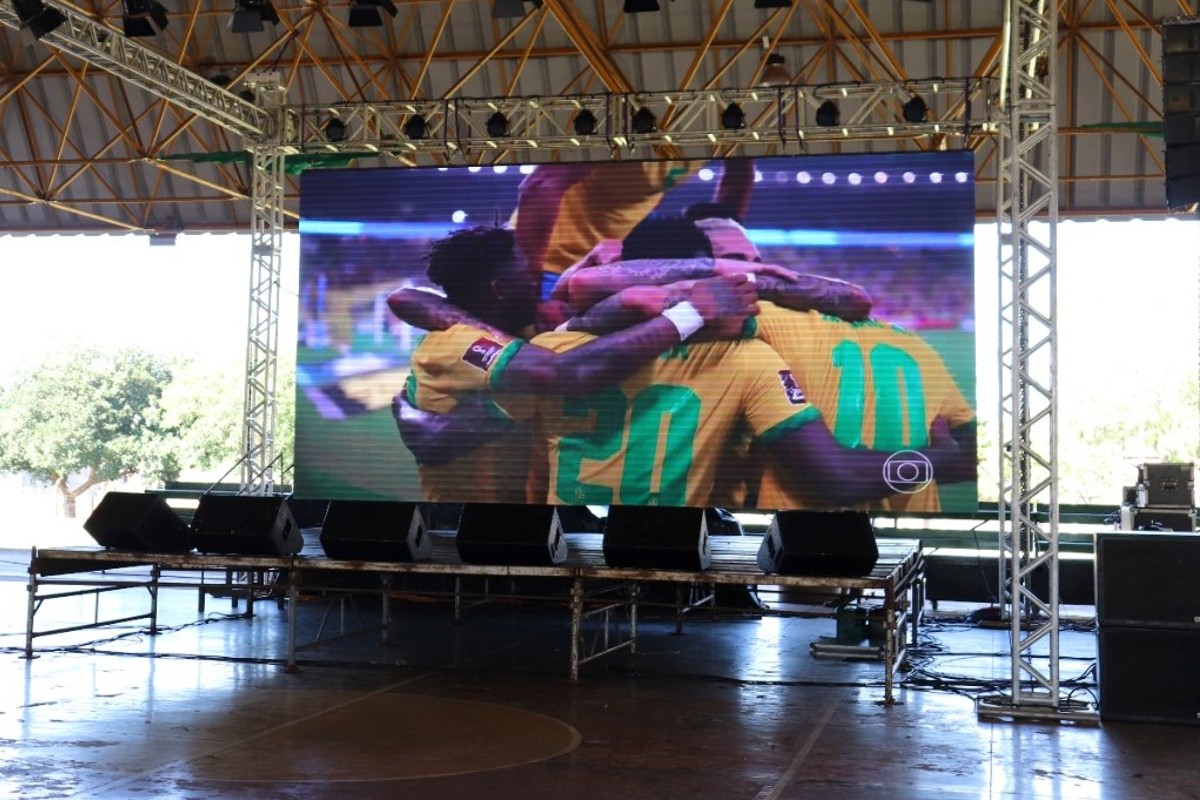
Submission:
[[[587,395],[598,386],[624,380],[702,327],[706,333],[736,336],[746,317],[757,313],[756,301],[754,284],[744,275],[697,282],[690,301],[676,303],[653,319],[572,350],[556,353],[534,344],[521,347],[493,378],[492,387]]]

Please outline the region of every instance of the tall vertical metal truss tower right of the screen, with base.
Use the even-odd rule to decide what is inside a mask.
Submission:
[[[1012,682],[978,698],[986,717],[1093,721],[1091,704],[1060,690],[1057,221],[1055,124],[1057,11],[1009,0],[1008,66],[1001,86],[1000,233],[1000,587],[1009,622]],[[1039,228],[1037,221],[1043,221]],[[1048,596],[1034,591],[1048,575]]]

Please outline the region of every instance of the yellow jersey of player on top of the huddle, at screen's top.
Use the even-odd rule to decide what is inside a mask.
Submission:
[[[648,217],[662,194],[700,170],[703,162],[618,161],[602,164],[563,194],[544,272],[562,275],[605,239],[624,239]],[[514,216],[514,223],[520,219]]]

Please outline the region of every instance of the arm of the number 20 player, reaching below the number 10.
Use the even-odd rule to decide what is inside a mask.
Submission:
[[[884,480],[893,453],[845,447],[823,422],[788,431],[768,447],[791,491],[816,504],[850,506],[895,493],[894,485]],[[956,441],[942,417],[930,427],[929,446],[917,452],[929,461],[928,477],[938,483],[976,479],[974,447]]]

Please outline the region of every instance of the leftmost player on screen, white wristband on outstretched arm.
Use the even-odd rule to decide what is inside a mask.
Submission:
[[[616,383],[702,327],[725,329],[732,336],[757,311],[756,295],[745,276],[697,282],[689,300],[586,348],[559,354],[521,338],[534,320],[538,283],[512,231],[456,231],[434,242],[428,272],[433,282],[456,287],[452,300],[462,309],[462,320],[484,323],[458,321],[444,331],[433,331],[414,350],[406,385],[408,401],[436,414],[449,413],[470,392],[485,392],[487,397],[473,407],[476,414],[527,419],[532,414],[532,393],[583,393]],[[508,396],[508,402],[490,399],[499,396]],[[503,426],[500,431],[497,439],[448,462],[419,459],[425,499],[461,501],[469,487],[475,500],[523,501],[529,473],[528,431],[505,431]]]

